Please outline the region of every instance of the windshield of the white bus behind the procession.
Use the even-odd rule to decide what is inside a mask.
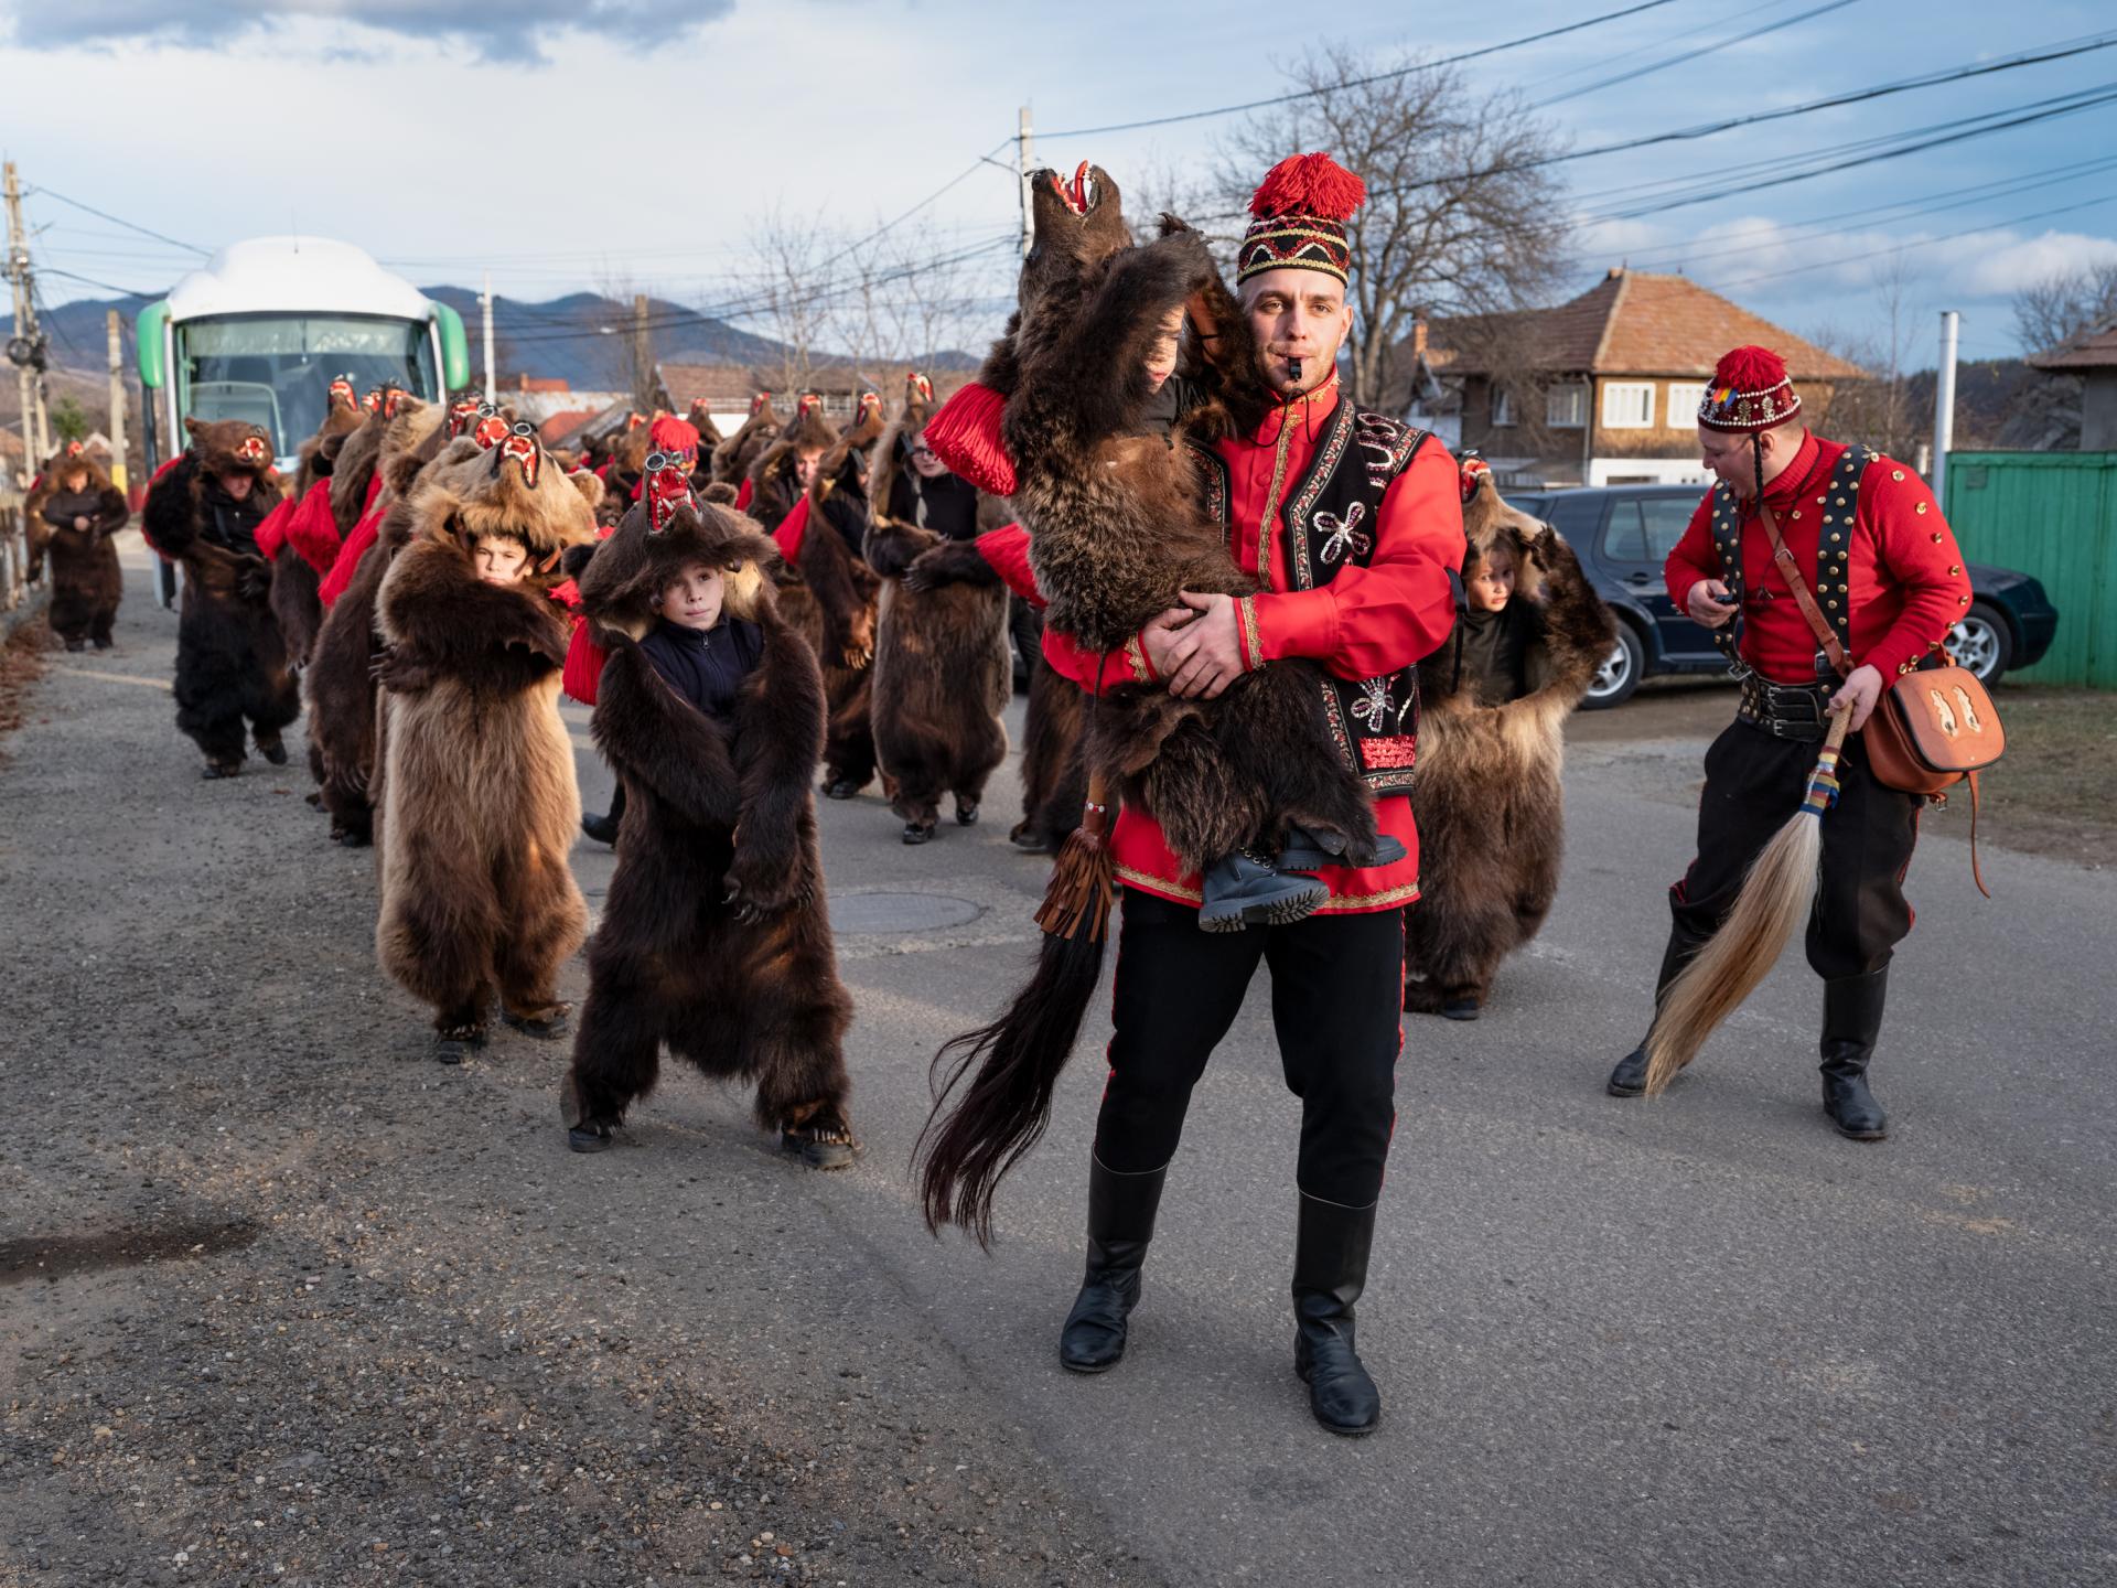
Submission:
[[[394,381],[415,398],[440,398],[423,320],[243,313],[176,326],[178,411],[263,426],[282,459],[315,434],[339,375],[360,392]]]

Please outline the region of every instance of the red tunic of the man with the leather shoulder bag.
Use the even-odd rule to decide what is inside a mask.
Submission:
[[[1793,462],[1763,489],[1778,534],[1819,599],[1827,599],[1825,591],[1816,591],[1816,546],[1827,506],[1823,487],[1844,451],[1844,443],[1804,434]],[[1971,580],[1933,491],[1888,457],[1878,457],[1861,474],[1848,553],[1844,582],[1852,639],[1846,650],[1854,667],[1876,667],[1886,684],[1939,648],[1969,610]],[[1713,551],[1711,491],[1668,553],[1664,574],[1679,612],[1689,610],[1698,580],[1721,576],[1719,553]],[[1816,684],[1816,635],[1772,561],[1770,536],[1755,512],[1742,519],[1742,658],[1774,684]]]

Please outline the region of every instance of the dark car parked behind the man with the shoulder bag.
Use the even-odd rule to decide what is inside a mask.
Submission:
[[[1677,612],[1662,563],[1683,538],[1702,485],[1584,485],[1507,491],[1507,504],[1550,523],[1617,614],[1617,648],[1588,686],[1584,707],[1620,705],[1655,673],[1719,673],[1727,658],[1711,633]],[[2009,667],[2028,667],[2051,646],[2058,608],[2028,574],[1969,565],[1971,610],[1948,648],[1990,688]]]

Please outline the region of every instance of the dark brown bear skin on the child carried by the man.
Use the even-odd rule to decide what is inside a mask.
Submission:
[[[1145,423],[1147,347],[1169,311],[1217,275],[1188,229],[1133,246],[1101,169],[1082,207],[1052,172],[1031,191],[1035,246],[989,383],[1010,394],[1012,504],[1048,620],[1088,648],[1118,650],[1177,606],[1177,591],[1260,589],[1205,515],[1188,449]],[[1219,335],[1238,341],[1247,320],[1224,315]],[[1209,409],[1196,423],[1230,417]],[[1126,798],[1160,819],[1192,870],[1243,845],[1277,845],[1289,824],[1344,834],[1355,864],[1374,855],[1374,805],[1325,730],[1310,663],[1247,673],[1215,701],[1126,684],[1103,699],[1090,733],[1092,764],[1124,779]]]

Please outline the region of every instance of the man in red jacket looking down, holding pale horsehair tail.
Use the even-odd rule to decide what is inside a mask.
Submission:
[[[1914,671],[1971,603],[1962,553],[1933,491],[1903,464],[1823,440],[1802,423],[1787,366],[1736,347],[1698,409],[1717,485],[1668,555],[1668,595],[1713,629],[1742,680],[1736,720],[1706,752],[1698,858],[1675,887],[1655,1004],[1734,908],[1751,862],[1802,802],[1829,714],[1852,711],[1823,815],[1823,877],[1808,919],[1808,963],[1823,976],[1823,1109],[1854,1141],[1888,1131],[1867,1090],[1882,1031],[1888,959],[1912,930],[1903,872],[1922,800],[1867,771],[1859,730],[1886,682]],[[1757,483],[1763,508],[1757,508]],[[1802,616],[1776,534],[1838,644],[1857,663],[1838,680]],[[1613,1097],[1645,1090],[1645,1042],[1617,1061]]]

